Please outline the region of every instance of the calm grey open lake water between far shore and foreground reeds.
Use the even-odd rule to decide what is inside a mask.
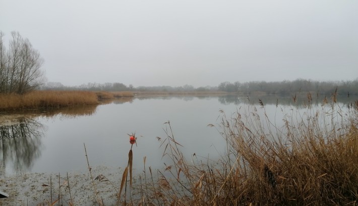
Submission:
[[[265,105],[262,109],[259,98]],[[347,110],[356,98],[341,98],[338,106]],[[320,107],[322,99],[314,99]],[[165,138],[170,121],[175,140],[183,145],[188,157],[217,159],[225,152],[226,142],[215,127],[221,123],[220,113],[227,118],[236,111],[256,108],[282,126],[285,114],[293,109],[305,112],[306,97],[277,96],[157,96],[115,99],[107,104],[46,111],[26,111],[21,114],[0,114],[0,175],[44,172],[86,171],[84,143],[91,166],[126,167],[131,144],[129,135],[135,133],[134,168],[164,167],[157,137]],[[329,111],[329,106],[328,111]]]

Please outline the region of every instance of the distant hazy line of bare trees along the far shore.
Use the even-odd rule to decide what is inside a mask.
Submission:
[[[336,88],[340,94],[358,95],[358,78],[352,81],[313,81],[296,79],[293,81],[248,81],[222,82],[218,86],[138,86],[120,83],[87,83],[79,86],[64,86],[59,82],[48,82],[41,87],[43,90],[90,90],[90,91],[226,91],[237,94],[274,94],[293,95],[299,92],[312,94],[331,94]]]

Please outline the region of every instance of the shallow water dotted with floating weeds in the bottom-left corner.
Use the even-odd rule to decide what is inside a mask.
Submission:
[[[104,204],[115,204],[116,190],[120,186],[119,183],[122,179],[123,169],[121,167],[112,168],[100,165],[92,167],[91,173],[94,179],[98,175],[104,175],[115,186],[114,188],[109,181],[94,180],[98,197],[103,199]],[[59,184],[58,173],[34,172],[1,175],[0,190],[8,193],[9,197],[1,198],[0,205],[47,205],[51,202],[51,192],[52,202],[54,202],[58,199],[59,190],[61,192],[60,204],[69,204],[71,197],[74,205],[96,204],[94,187],[88,170],[68,172],[69,179],[67,179],[67,173],[60,173],[59,175]],[[139,195],[139,187],[136,185],[136,182],[134,181],[132,188],[132,197],[138,197]]]

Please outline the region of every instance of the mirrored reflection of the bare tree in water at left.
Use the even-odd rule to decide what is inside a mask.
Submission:
[[[0,126],[0,161],[5,169],[13,162],[14,170],[31,168],[40,154],[44,126],[31,118],[20,118],[13,125]]]

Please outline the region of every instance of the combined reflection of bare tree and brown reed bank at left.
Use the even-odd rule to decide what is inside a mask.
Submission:
[[[41,154],[41,139],[45,126],[36,118],[72,119],[79,116],[91,116],[97,105],[67,108],[47,108],[6,113],[0,116],[0,174],[6,164],[12,163],[14,170],[30,169]]]

